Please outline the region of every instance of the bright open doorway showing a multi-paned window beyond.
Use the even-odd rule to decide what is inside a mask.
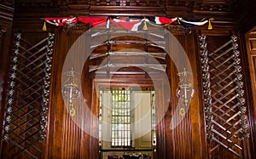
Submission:
[[[101,158],[154,158],[154,88],[100,88],[99,95]]]

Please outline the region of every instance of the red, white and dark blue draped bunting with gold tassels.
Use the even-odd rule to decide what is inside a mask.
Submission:
[[[51,25],[63,26],[64,24],[77,24],[78,20],[82,23],[90,23],[91,26],[106,26],[109,27],[109,23],[114,26],[122,26],[123,28],[130,31],[142,30],[143,26],[149,24],[151,26],[165,26],[176,21],[185,28],[193,28],[195,26],[205,25],[207,22],[210,23],[211,19],[186,19],[186,18],[166,18],[166,17],[57,17],[57,18],[45,18],[45,21]]]

